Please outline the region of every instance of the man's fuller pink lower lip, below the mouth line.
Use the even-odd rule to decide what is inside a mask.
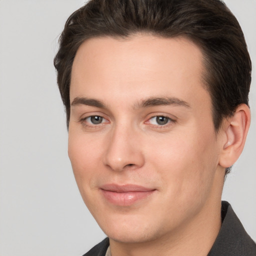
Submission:
[[[103,196],[112,204],[129,206],[147,199],[155,190],[114,192],[101,189]]]

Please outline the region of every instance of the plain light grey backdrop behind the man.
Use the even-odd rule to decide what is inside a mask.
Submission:
[[[256,0],[226,0],[252,58],[252,123],[225,182],[256,239]],[[0,0],[0,255],[82,255],[105,235],[86,209],[67,156],[65,114],[52,64],[81,0]]]

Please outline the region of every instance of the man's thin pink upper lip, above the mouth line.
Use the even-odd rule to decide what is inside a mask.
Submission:
[[[117,193],[122,192],[146,192],[146,191],[152,191],[155,190],[154,188],[148,188],[141,185],[136,184],[104,184],[100,186],[100,189],[106,190],[106,191],[113,191]]]

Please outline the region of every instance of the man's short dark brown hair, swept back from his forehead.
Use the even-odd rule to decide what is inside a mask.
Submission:
[[[89,0],[67,19],[54,58],[67,126],[71,68],[80,44],[92,37],[125,38],[138,32],[185,36],[200,47],[215,131],[239,104],[248,104],[250,57],[240,25],[222,1]]]

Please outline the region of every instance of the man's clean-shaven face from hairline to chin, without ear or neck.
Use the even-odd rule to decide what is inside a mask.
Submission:
[[[110,239],[170,236],[220,201],[220,143],[202,58],[187,39],[153,35],[79,47],[68,154],[81,196]]]

